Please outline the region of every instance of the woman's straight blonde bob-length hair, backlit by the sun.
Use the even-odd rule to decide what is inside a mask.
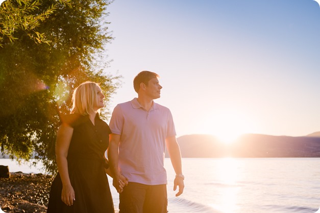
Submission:
[[[96,86],[99,84],[87,81],[73,91],[71,113],[80,113],[81,115],[95,113],[93,106],[97,102]]]

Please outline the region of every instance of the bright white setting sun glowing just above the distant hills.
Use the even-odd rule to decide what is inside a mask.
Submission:
[[[232,143],[240,135],[254,131],[253,122],[248,115],[231,110],[215,112],[206,126],[207,132],[223,143]]]

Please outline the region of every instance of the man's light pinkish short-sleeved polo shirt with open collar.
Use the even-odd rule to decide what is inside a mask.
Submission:
[[[130,182],[166,184],[165,139],[176,136],[170,110],[153,102],[147,112],[134,98],[116,105],[109,126],[113,134],[121,135],[120,173]]]

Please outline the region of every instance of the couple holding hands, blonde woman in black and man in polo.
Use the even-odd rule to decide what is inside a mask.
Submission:
[[[110,126],[99,117],[105,106],[99,85],[85,82],[75,89],[71,114],[61,117],[57,132],[58,174],[47,213],[114,212],[106,173],[119,193],[119,213],[166,213],[165,148],[177,174],[176,196],[183,193],[173,117],[154,102],[162,89],[158,78],[154,72],[138,73],[133,81],[138,97],[116,105]]]

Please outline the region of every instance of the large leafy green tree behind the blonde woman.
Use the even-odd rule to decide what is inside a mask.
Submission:
[[[103,52],[112,37],[104,20],[110,1],[38,3],[29,15],[37,17],[54,8],[32,30],[46,42],[17,28],[11,35],[16,39],[4,37],[0,47],[0,145],[11,158],[28,160],[34,155],[48,172],[55,172],[59,116],[69,113],[72,90],[84,81],[99,82],[109,102],[120,76],[105,74],[108,61]],[[108,113],[103,111],[102,117]]]

